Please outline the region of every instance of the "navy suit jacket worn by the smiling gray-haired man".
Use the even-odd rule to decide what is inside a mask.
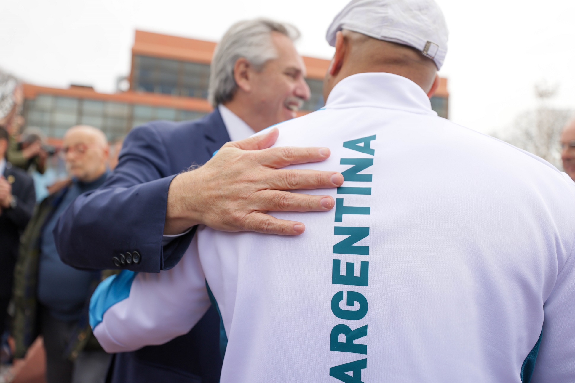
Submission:
[[[76,198],[60,216],[54,234],[62,261],[92,270],[157,273],[174,267],[194,232],[162,247],[170,182],[193,164],[207,162],[227,141],[217,109],[201,120],[154,121],[133,129],[108,181]],[[186,335],[117,354],[109,380],[217,383],[221,363],[219,317],[210,308]]]

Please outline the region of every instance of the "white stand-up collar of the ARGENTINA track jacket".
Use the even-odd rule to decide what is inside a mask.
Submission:
[[[408,78],[390,73],[358,73],[333,87],[326,109],[371,106],[405,110],[417,114],[435,114],[427,94]]]

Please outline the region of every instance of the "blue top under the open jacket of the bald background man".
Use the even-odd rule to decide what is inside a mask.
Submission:
[[[38,271],[38,300],[47,307],[52,316],[60,320],[78,320],[90,294],[90,285],[99,271],[76,270],[64,264],[56,251],[53,229],[68,205],[85,191],[102,185],[108,172],[93,182],[72,181],[59,204],[44,225],[40,242],[40,265]]]

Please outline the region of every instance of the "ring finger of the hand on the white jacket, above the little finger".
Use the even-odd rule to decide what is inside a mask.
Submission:
[[[269,190],[263,193],[262,210],[272,212],[325,212],[335,205],[330,196],[310,196],[290,191]]]

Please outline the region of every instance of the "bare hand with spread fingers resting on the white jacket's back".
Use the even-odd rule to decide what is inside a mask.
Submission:
[[[305,225],[279,220],[269,211],[315,212],[334,206],[330,196],[288,190],[338,187],[336,171],[282,170],[289,164],[320,162],[328,148],[275,147],[279,132],[229,142],[204,166],[175,177],[168,191],[165,235],[204,224],[222,231],[298,235]]]

